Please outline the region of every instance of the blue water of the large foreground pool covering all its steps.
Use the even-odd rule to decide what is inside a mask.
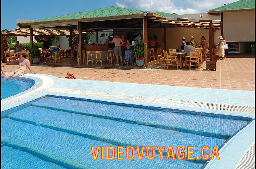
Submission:
[[[250,120],[46,96],[1,119],[1,167],[200,169],[205,160],[159,160],[158,153],[153,160],[101,160],[101,153],[93,160],[90,147],[195,146],[192,156],[200,157],[202,146],[220,147]]]

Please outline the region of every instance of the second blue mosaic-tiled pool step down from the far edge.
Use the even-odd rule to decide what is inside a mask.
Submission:
[[[28,113],[29,112],[29,113]],[[149,126],[118,122],[115,120],[96,118],[81,114],[72,114],[30,106],[7,116],[16,121],[63,131],[93,140],[104,141],[122,146],[167,146],[185,147],[197,145],[195,157],[200,156],[200,146],[220,146],[227,138],[211,138],[198,136],[175,130],[164,130]],[[166,149],[167,151],[167,149]],[[176,152],[176,150],[175,150]]]

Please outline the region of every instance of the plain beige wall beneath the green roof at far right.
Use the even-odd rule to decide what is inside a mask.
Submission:
[[[255,41],[255,10],[223,13],[226,41]]]

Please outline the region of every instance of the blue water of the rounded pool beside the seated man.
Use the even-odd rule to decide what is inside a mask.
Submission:
[[[25,90],[28,90],[35,84],[35,81],[30,78],[24,77],[9,77],[4,81],[4,77],[1,76],[1,99],[14,96]]]

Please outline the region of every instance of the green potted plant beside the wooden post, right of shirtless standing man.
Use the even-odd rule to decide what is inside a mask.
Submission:
[[[138,67],[144,66],[144,42],[141,39],[137,42],[136,46],[134,47],[134,57],[136,59],[136,65]]]

